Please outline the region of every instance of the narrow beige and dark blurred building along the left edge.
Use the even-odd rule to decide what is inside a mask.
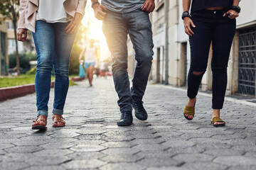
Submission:
[[[7,24],[0,25],[0,76],[8,74],[9,58],[7,55]]]

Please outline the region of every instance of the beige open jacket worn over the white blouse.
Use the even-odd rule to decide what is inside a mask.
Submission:
[[[66,13],[74,17],[75,13],[85,13],[87,0],[63,0]],[[39,0],[20,0],[18,29],[25,28],[35,32],[36,11],[38,10]]]

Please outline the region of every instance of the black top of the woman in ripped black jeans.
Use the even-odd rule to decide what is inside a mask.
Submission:
[[[234,0],[192,0],[191,13],[213,6],[224,6],[230,8]]]

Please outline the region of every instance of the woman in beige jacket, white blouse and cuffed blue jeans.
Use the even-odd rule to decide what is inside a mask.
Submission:
[[[85,5],[86,0],[20,0],[17,38],[25,41],[28,30],[31,30],[37,53],[35,89],[38,111],[32,129],[46,129],[53,67],[53,127],[65,126],[62,115],[69,86],[70,52]]]

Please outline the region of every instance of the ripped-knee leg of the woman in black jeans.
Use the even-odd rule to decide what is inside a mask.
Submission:
[[[212,29],[208,23],[195,22],[196,28],[191,28],[194,35],[189,38],[191,46],[191,67],[188,71],[188,102],[186,106],[193,108],[196,103],[199,85],[208,63]],[[194,111],[193,111],[194,113]],[[186,118],[191,120],[193,114],[184,112]]]

